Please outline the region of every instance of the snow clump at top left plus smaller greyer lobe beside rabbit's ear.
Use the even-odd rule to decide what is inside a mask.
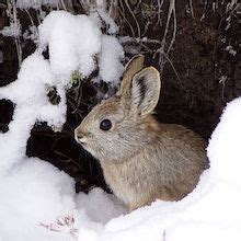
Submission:
[[[124,50],[117,38],[104,35],[97,15],[72,15],[65,11],[50,12],[38,26],[39,48],[48,47],[50,68],[61,81],[69,83],[74,71],[82,78],[96,69],[102,80],[116,87],[124,67]]]

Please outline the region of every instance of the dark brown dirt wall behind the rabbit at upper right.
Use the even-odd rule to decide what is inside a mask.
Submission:
[[[161,120],[183,124],[208,139],[226,103],[241,94],[241,18],[225,14],[225,5],[215,12],[208,5],[200,21],[202,7],[194,5],[195,18],[177,8],[177,34],[170,59],[179,78],[167,65],[158,110]],[[228,18],[230,27],[226,30]],[[237,54],[226,50],[227,46]]]

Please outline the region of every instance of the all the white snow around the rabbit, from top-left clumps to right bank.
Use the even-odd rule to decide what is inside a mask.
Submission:
[[[69,35],[59,39],[68,24]],[[92,57],[99,54],[101,74],[107,82],[118,79],[123,49],[107,48],[108,44],[117,46],[117,39],[103,36],[88,16],[51,13],[39,33],[41,48],[49,46],[49,61],[41,49],[36,50],[23,61],[18,80],[0,89],[0,99],[15,104],[9,131],[0,135],[0,241],[240,240],[241,99],[228,104],[214,131],[207,149],[210,169],[195,191],[181,202],[157,200],[127,214],[113,195],[100,188],[88,195],[76,194],[73,180],[67,174],[43,160],[25,157],[26,141],[36,122],[47,122],[56,128],[65,123],[65,91],[71,71],[78,68],[88,76],[94,68]],[[82,33],[90,35],[72,39]],[[96,44],[94,47],[88,42],[89,36],[90,43]],[[107,71],[110,68],[117,68],[116,76],[115,71]],[[46,97],[53,85],[61,99],[57,106]]]

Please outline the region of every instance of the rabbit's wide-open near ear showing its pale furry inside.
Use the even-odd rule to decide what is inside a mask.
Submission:
[[[149,114],[158,104],[161,89],[159,71],[153,67],[136,73],[129,89],[130,108],[140,115]]]

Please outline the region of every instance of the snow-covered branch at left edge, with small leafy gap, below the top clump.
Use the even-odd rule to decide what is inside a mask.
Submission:
[[[51,105],[47,87],[56,85],[60,103]],[[15,104],[9,131],[0,135],[0,173],[16,164],[25,156],[26,141],[36,122],[61,128],[66,120],[65,85],[56,82],[50,66],[39,53],[23,61],[18,80],[0,89],[0,97]]]

